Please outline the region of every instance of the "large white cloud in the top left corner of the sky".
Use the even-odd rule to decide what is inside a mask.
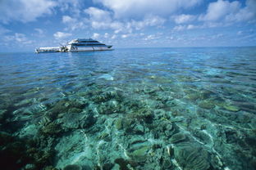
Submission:
[[[22,22],[34,21],[40,16],[51,14],[57,3],[52,0],[1,0],[0,20]]]

